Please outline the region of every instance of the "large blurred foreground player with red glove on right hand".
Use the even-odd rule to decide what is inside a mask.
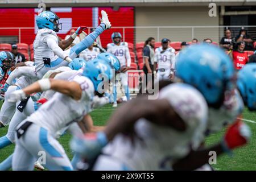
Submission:
[[[207,129],[207,104],[217,106],[224,102],[223,96],[229,89],[228,85],[232,85],[235,72],[232,61],[220,49],[209,45],[192,49],[196,54],[187,59],[184,69],[177,67],[177,73],[187,75],[191,68],[207,73],[205,76],[205,73],[198,72],[196,77],[188,74],[192,81],[201,81],[201,87],[196,86],[200,92],[187,84],[171,84],[160,90],[158,100],[138,98],[120,107],[104,132],[94,137],[85,135],[73,139],[71,148],[89,163],[94,163],[91,169],[196,169],[205,164],[180,167],[176,162],[189,154],[191,143],[201,142],[200,136]],[[123,118],[127,110],[129,115]],[[216,146],[195,152],[208,156],[209,150],[214,150],[221,154],[247,143],[249,133],[249,128],[239,123],[231,127]],[[198,149],[197,146],[192,147]],[[100,152],[102,154],[96,159]]]

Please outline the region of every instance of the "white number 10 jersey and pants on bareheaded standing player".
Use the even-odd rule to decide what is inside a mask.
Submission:
[[[158,79],[168,80],[171,68],[174,67],[175,64],[175,49],[169,47],[163,51],[162,47],[156,48],[154,61],[158,63]]]

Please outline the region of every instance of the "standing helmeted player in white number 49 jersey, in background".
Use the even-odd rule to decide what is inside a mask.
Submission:
[[[127,101],[130,100],[130,91],[128,86],[128,69],[131,66],[131,56],[126,42],[121,42],[122,35],[119,32],[114,32],[111,35],[113,43],[107,45],[107,52],[117,56],[121,63],[121,73],[115,76],[115,83],[113,85],[114,104],[113,107],[117,107],[117,84],[121,81],[122,87],[125,90],[125,96]]]

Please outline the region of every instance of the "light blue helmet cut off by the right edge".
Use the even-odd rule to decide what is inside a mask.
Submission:
[[[246,64],[237,74],[237,88],[249,110],[256,110],[256,63]]]

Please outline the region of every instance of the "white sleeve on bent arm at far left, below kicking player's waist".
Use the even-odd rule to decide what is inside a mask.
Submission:
[[[19,78],[21,76],[36,78],[35,69],[32,67],[17,67],[13,72],[11,72],[8,79],[6,80],[6,83],[11,85],[15,78]]]

